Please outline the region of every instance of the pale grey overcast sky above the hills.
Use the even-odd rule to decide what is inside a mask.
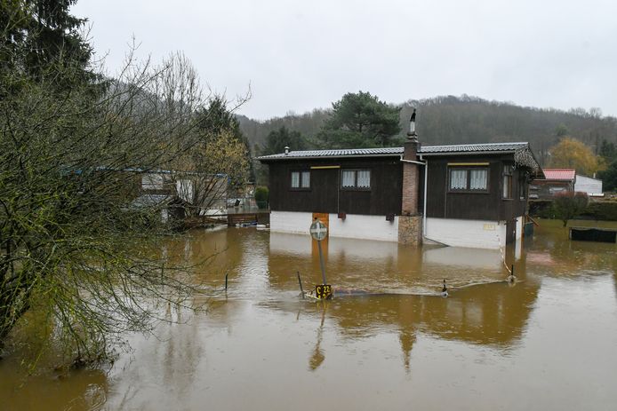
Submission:
[[[202,83],[252,99],[256,119],[349,91],[401,103],[463,93],[617,115],[617,2],[461,0],[79,0],[111,73],[182,51]]]

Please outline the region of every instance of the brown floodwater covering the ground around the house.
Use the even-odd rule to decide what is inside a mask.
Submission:
[[[169,241],[168,256],[216,254],[196,273],[206,312],[169,307],[176,323],[127,336],[111,368],[27,377],[0,360],[0,409],[617,409],[617,245],[541,221],[505,256],[345,239],[324,251],[328,282],[364,295],[300,299],[298,272],[321,281],[308,236]]]

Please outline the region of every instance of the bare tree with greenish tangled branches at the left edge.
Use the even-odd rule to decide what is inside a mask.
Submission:
[[[0,82],[0,348],[36,317],[78,365],[199,290],[165,255],[156,206],[132,207],[130,193],[136,173],[194,150],[204,98],[180,54],[159,66],[129,55],[115,80],[59,91],[75,69],[58,59],[34,79],[16,66]]]

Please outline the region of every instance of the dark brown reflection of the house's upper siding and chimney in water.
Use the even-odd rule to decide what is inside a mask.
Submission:
[[[309,364],[315,369],[325,360],[321,343],[326,316],[335,323],[333,329],[348,343],[381,333],[396,333],[406,370],[409,370],[418,332],[509,352],[524,335],[539,289],[538,281],[519,282],[514,287],[501,282],[463,288],[448,298],[344,296],[331,302],[307,303],[306,312],[321,316],[316,348],[310,354]],[[268,307],[274,310],[288,308]]]

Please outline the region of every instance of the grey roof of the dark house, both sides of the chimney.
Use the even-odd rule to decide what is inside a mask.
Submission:
[[[485,144],[458,144],[453,146],[421,146],[420,154],[453,154],[453,153],[490,153],[514,152],[527,148],[529,143],[485,143]],[[257,160],[284,160],[299,158],[332,158],[332,157],[384,157],[403,154],[404,147],[384,148],[349,148],[341,150],[304,150],[290,151],[288,154],[270,154],[257,157]]]

